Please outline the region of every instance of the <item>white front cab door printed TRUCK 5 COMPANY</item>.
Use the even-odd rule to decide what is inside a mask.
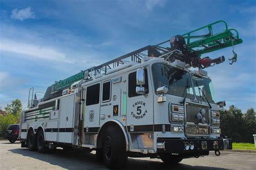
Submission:
[[[149,69],[144,68],[145,94],[136,93],[136,70],[128,74],[127,126],[128,131],[153,132],[153,94]]]

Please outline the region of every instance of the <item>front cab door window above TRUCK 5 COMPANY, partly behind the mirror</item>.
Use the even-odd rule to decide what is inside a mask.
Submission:
[[[143,87],[145,88],[145,94],[149,93],[149,81],[147,79],[147,69],[144,69],[145,72],[145,84]],[[134,96],[140,96],[140,94],[136,93],[136,72],[132,72],[129,74],[129,89],[128,89],[128,96],[129,97],[134,97]]]

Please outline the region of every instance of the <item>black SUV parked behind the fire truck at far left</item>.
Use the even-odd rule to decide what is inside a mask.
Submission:
[[[19,136],[19,124],[10,124],[5,131],[4,138],[8,139],[10,143],[15,143]]]

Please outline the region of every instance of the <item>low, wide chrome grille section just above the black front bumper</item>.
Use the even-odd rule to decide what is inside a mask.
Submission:
[[[206,135],[210,134],[210,127],[208,126],[195,126],[195,125],[187,125],[185,128],[186,135]]]

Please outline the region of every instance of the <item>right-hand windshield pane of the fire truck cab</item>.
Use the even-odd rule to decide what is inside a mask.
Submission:
[[[216,103],[212,80],[192,74],[192,81],[194,85],[194,91],[198,100],[205,102],[207,102],[208,100],[210,103]],[[207,100],[205,97],[207,97]]]

